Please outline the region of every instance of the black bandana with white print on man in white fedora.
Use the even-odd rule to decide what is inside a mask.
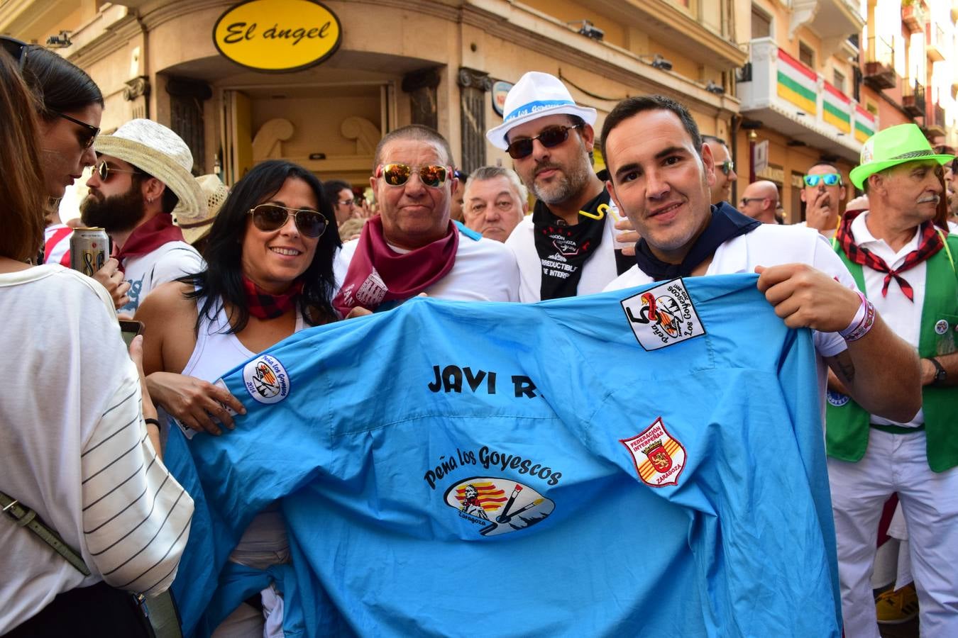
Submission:
[[[539,294],[543,300],[576,296],[582,268],[602,243],[605,216],[608,213],[605,209],[600,211],[600,207],[608,207],[610,200],[608,191],[603,188],[599,195],[582,207],[582,212],[588,214],[580,214],[579,223],[575,226],[567,225],[545,203],[536,200],[533,227],[536,253],[542,264]],[[616,251],[619,275],[629,266],[628,259],[622,258],[622,251]]]

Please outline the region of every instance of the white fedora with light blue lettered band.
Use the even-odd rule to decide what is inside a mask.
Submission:
[[[509,146],[506,136],[514,126],[536,118],[564,113],[579,116],[589,126],[596,123],[594,108],[579,106],[559,77],[538,71],[530,71],[519,78],[509,90],[502,111],[506,114],[502,123],[490,128],[486,139],[503,150]]]

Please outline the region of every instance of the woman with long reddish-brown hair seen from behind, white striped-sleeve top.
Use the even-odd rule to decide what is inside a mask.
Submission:
[[[0,53],[0,634],[145,636],[126,591],[170,586],[193,500],[159,459],[156,411],[103,287],[25,263],[50,192],[22,68]]]

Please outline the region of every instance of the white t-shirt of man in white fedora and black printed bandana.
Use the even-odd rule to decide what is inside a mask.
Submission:
[[[609,281],[618,273],[615,266],[615,221],[619,219],[615,202],[609,202],[611,214],[605,215],[602,242],[599,249],[582,266],[582,277],[576,288],[577,295],[601,293]],[[519,301],[531,303],[541,301],[542,261],[536,253],[536,230],[533,216],[527,215],[513,229],[506,246],[515,254],[519,265]],[[618,246],[618,248],[622,248]]]

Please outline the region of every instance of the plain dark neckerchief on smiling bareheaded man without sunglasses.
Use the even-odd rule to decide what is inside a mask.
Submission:
[[[635,261],[639,265],[639,270],[655,281],[689,276],[698,264],[715,253],[716,249],[726,241],[754,231],[760,226],[762,222],[759,220],[743,215],[728,203],[722,202],[719,206],[712,207],[712,220],[705,231],[698,235],[682,263],[667,264],[660,260],[652,254],[645,238],[640,239],[635,246]]]

